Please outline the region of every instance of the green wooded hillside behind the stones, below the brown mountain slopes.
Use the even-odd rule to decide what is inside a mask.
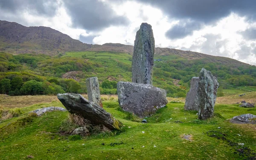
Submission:
[[[0,60],[2,94],[87,93],[85,79],[93,76],[98,77],[102,94],[116,94],[118,81],[131,81],[132,55],[123,52],[66,52],[58,56],[1,52]],[[169,97],[185,97],[190,79],[203,67],[218,78],[218,96],[255,89],[255,66],[188,60],[179,55],[155,56],[153,85],[165,89]]]

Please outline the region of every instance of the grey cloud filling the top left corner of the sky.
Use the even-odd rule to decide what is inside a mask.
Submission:
[[[53,16],[58,8],[56,0],[0,0],[0,9],[17,14],[29,12],[35,15]]]

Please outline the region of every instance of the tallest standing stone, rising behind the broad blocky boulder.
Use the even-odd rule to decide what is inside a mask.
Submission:
[[[136,33],[132,55],[132,82],[152,84],[154,35],[150,24],[142,23]]]

